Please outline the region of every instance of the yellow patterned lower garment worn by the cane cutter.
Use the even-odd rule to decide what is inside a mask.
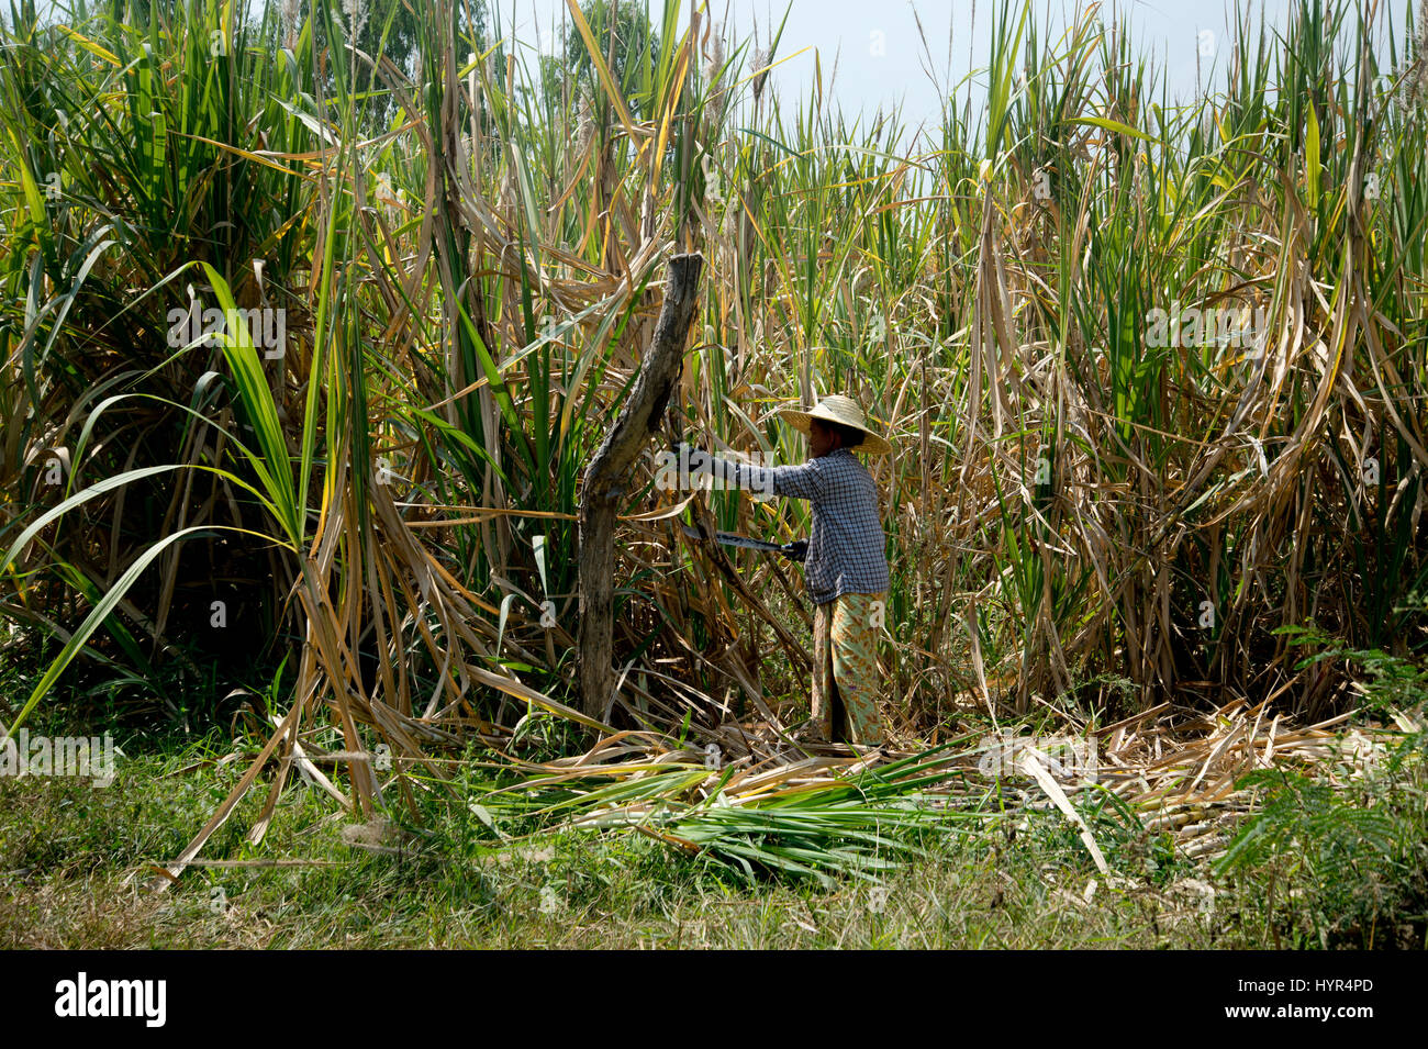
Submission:
[[[813,617],[813,729],[824,739],[877,746],[878,634],[887,594],[844,594]]]

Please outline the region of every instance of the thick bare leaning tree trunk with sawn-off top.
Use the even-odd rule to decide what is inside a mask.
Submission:
[[[634,388],[615,424],[595,451],[580,490],[580,702],[585,714],[603,718],[615,674],[613,658],[613,598],[615,515],[644,442],[660,425],[670,394],[684,367],[684,344],[698,304],[700,254],[670,258],[664,305],[654,325],[654,340]]]

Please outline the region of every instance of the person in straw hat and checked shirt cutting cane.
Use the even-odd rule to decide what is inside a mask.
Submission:
[[[798,738],[877,746],[877,639],[887,614],[888,564],[877,484],[853,452],[887,455],[892,445],[868,430],[850,397],[834,394],[811,411],[785,408],[780,415],[807,434],[807,462],[764,468],[695,457],[705,460],[697,472],[810,501],[804,578],[814,602],[813,718]],[[688,461],[683,452],[680,460]]]

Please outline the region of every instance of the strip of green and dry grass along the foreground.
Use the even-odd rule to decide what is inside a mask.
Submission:
[[[13,684],[14,669],[0,676]],[[493,786],[527,781],[473,751],[450,765],[454,791],[420,792],[416,819],[343,818],[298,781],[256,846],[253,792],[207,855],[256,865],[143,888],[241,775],[236,749],[260,742],[121,739],[104,789],[0,778],[0,948],[1428,946],[1421,734],[1347,782],[1255,774],[1264,804],[1218,856],[1188,859],[1168,833],[1081,804],[1111,878],[1060,814],[1008,809],[995,792],[922,822],[890,809],[898,849],[883,852],[902,862],[871,876],[744,872],[718,841],[684,855],[633,829],[573,831],[550,808],[565,788],[503,802]]]

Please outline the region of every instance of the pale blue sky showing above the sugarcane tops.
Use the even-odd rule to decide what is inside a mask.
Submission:
[[[1391,21],[1401,41],[1407,0],[1378,3],[1381,33]],[[655,3],[655,9],[658,6]],[[771,74],[780,97],[808,93],[817,51],[825,81],[837,61],[831,94],[844,113],[863,110],[871,116],[880,107],[887,110],[901,103],[907,123],[927,120],[932,126],[941,108],[941,86],[948,80],[955,84],[968,70],[985,69],[992,11],[1000,6],[1001,0],[710,0],[714,20],[734,39],[744,40],[757,30],[764,44],[787,10],[788,21],[775,56],[787,61]],[[1014,1],[1012,7],[1017,6]],[[1130,20],[1135,53],[1167,70],[1172,100],[1194,97],[1200,93],[1197,83],[1208,84],[1212,71],[1222,71],[1228,63],[1234,44],[1228,29],[1232,3],[1118,0],[1114,6]],[[1297,0],[1257,0],[1251,10],[1262,10],[1264,21],[1282,30],[1295,6]],[[493,7],[500,10],[503,30],[508,30],[514,19],[521,43],[536,46],[538,41],[543,51],[554,50],[564,0],[493,0]],[[1111,7],[1105,4],[1102,11]],[[1060,36],[1060,27],[1075,10],[1075,0],[1032,0],[1038,23],[1055,27],[1050,39]],[[795,56],[798,51],[803,53]]]

